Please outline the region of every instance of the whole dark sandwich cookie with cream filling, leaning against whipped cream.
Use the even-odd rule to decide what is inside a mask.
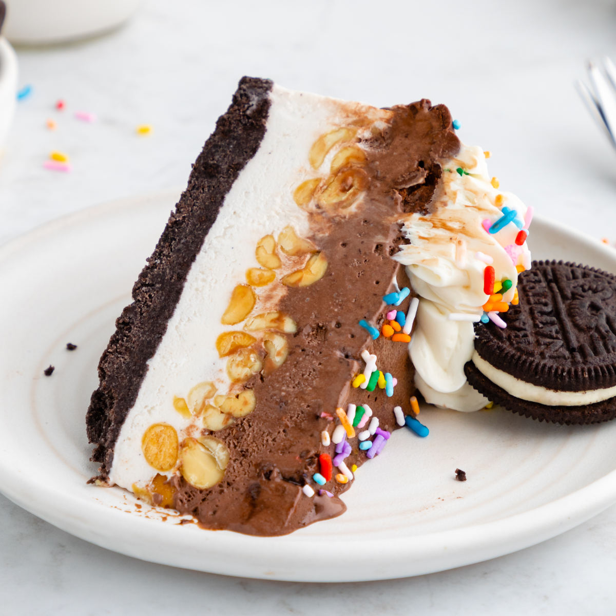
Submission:
[[[518,278],[519,303],[480,323],[464,367],[492,402],[525,417],[589,424],[616,416],[616,277],[535,261]]]

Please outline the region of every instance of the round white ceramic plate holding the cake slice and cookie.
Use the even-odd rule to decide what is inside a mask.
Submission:
[[[348,511],[287,537],[179,524],[120,488],[86,485],[84,414],[96,365],[177,193],[68,216],[0,249],[0,490],[67,532],[147,561],[228,575],[343,582],[419,575],[501,556],[616,502],[616,422],[567,428],[492,410],[424,408],[365,464]],[[616,251],[548,221],[537,258],[616,272]],[[67,342],[78,344],[67,351]],[[51,377],[43,376],[53,364]],[[454,471],[466,471],[464,483]]]

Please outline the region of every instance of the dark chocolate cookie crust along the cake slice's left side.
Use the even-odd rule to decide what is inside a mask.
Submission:
[[[188,187],[169,216],[163,235],[132,289],[132,304],[99,362],[99,388],[87,410],[87,437],[96,445],[92,461],[106,480],[113,447],[128,410],[176,307],[188,270],[195,261],[225,195],[265,134],[270,108],[269,79],[244,77],[232,103],[216,123],[193,164]]]

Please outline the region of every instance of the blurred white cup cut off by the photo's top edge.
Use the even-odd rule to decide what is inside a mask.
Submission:
[[[140,0],[7,0],[4,36],[47,44],[92,36],[127,20]]]

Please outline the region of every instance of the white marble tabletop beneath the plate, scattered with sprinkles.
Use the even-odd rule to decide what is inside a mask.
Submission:
[[[390,1],[377,11],[363,1],[314,0],[300,10],[282,0],[152,0],[100,38],[17,50],[20,84],[32,84],[33,94],[18,105],[0,161],[0,243],[100,201],[182,186],[245,74],[376,105],[445,102],[461,139],[492,151],[503,188],[616,241],[616,154],[573,89],[587,57],[616,57],[615,28],[614,2],[599,1]],[[62,113],[54,110],[60,98]],[[99,121],[79,122],[76,110]],[[56,131],[45,128],[47,118]],[[140,123],[153,134],[137,137]],[[71,156],[73,172],[42,168],[52,149]],[[613,614],[614,529],[612,507],[482,564],[391,582],[302,585],[136,561],[0,496],[0,612],[179,613],[181,604],[184,614]]]

